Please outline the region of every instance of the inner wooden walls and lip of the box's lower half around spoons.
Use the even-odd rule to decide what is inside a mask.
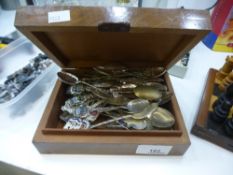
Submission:
[[[85,69],[87,70],[87,69]],[[67,70],[66,70],[67,71]],[[68,72],[76,74],[77,76],[80,76],[81,73],[77,70],[69,70]],[[166,78],[165,78],[166,77]],[[166,74],[164,77],[165,79],[164,84],[168,87],[168,90],[170,92],[173,92],[173,89],[169,83],[167,83],[168,75]],[[60,80],[58,80],[60,81]],[[174,135],[174,136],[180,136],[182,134],[180,129],[180,123],[179,120],[177,120],[176,110],[174,109],[174,99],[172,98],[171,101],[166,103],[165,105],[161,106],[166,109],[168,109],[175,117],[175,125],[171,129],[166,130],[159,130],[159,129],[153,129],[153,130],[123,130],[123,129],[88,129],[88,130],[65,130],[63,129],[64,122],[59,119],[59,115],[62,113],[60,110],[61,106],[64,105],[64,102],[66,99],[69,98],[65,94],[66,89],[68,85],[60,83],[60,87],[55,99],[55,103],[53,104],[53,108],[50,111],[50,117],[48,118],[45,128],[43,128],[42,132],[44,134],[116,134],[116,135],[158,135],[158,136],[166,136],[166,135]],[[103,120],[104,116],[99,116],[100,120],[97,120],[96,122]],[[107,118],[106,118],[107,119]]]

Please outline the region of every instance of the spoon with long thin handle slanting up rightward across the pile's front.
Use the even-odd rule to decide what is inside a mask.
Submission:
[[[106,124],[109,124],[109,123],[112,123],[112,122],[116,122],[116,121],[119,121],[119,120],[122,120],[122,119],[133,118],[133,119],[141,120],[141,119],[150,118],[152,113],[154,111],[156,111],[157,109],[158,109],[158,104],[157,103],[151,103],[150,105],[145,107],[143,111],[141,111],[139,113],[135,113],[133,115],[125,115],[125,116],[122,116],[122,117],[118,117],[118,118],[110,119],[110,120],[107,120],[107,121],[103,121],[103,122],[100,122],[100,123],[97,123],[95,125],[90,126],[90,128],[96,128],[96,127],[106,125]]]

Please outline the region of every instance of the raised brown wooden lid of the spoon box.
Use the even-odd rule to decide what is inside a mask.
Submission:
[[[48,23],[48,12],[70,21]],[[208,11],[124,7],[23,7],[15,26],[61,67],[171,67],[210,30]]]

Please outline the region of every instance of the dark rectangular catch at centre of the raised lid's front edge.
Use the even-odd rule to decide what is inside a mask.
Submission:
[[[119,23],[101,23],[98,25],[99,32],[129,32],[130,24],[119,22]]]

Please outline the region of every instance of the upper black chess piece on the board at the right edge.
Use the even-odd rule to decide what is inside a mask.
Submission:
[[[233,83],[227,87],[226,92],[222,93],[218,100],[213,104],[213,114],[211,118],[216,122],[224,122],[233,105]]]

